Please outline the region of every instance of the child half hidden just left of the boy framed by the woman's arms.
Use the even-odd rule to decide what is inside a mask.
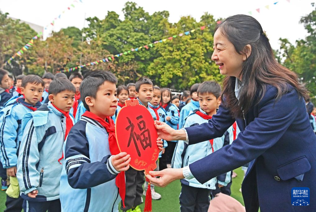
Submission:
[[[197,110],[200,107],[198,103],[198,96],[197,96],[197,88],[199,85],[200,83],[195,83],[191,86],[191,89],[190,89],[191,102],[187,103],[180,111],[179,129],[183,127],[185,118],[190,114],[190,112]]]

